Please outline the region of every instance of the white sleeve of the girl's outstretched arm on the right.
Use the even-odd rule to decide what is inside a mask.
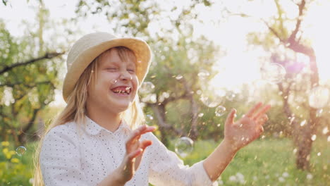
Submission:
[[[153,142],[148,147],[149,182],[153,185],[218,185],[217,182],[212,183],[209,179],[202,161],[191,167],[185,166],[183,161],[173,151],[169,151],[152,133],[146,134],[145,139]]]

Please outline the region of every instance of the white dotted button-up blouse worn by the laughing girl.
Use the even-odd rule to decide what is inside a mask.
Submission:
[[[52,128],[45,136],[39,159],[44,185],[97,185],[123,161],[130,127],[122,122],[118,130],[110,132],[90,118],[86,121],[81,134],[71,122]],[[202,161],[184,166],[152,132],[142,135],[144,139],[153,143],[127,186],[147,186],[148,182],[155,186],[217,185],[209,179]]]

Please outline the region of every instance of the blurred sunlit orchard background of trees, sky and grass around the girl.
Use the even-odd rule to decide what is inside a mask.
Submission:
[[[329,185],[329,0],[2,0],[0,185],[32,185],[42,132],[66,106],[66,56],[90,32],[145,39],[147,124],[188,165],[240,118],[271,104],[264,133],[219,185]]]

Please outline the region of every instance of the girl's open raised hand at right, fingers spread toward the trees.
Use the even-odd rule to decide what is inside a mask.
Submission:
[[[227,116],[224,128],[224,140],[229,142],[233,149],[237,150],[245,147],[264,132],[262,125],[268,120],[266,113],[271,106],[262,105],[263,104],[259,102],[235,123],[235,109]]]

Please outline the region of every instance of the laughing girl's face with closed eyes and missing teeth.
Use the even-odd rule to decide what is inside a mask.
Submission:
[[[135,70],[134,55],[127,55],[122,60],[117,49],[111,49],[99,56],[97,78],[94,88],[88,89],[87,105],[111,113],[121,113],[128,109],[138,89]]]

